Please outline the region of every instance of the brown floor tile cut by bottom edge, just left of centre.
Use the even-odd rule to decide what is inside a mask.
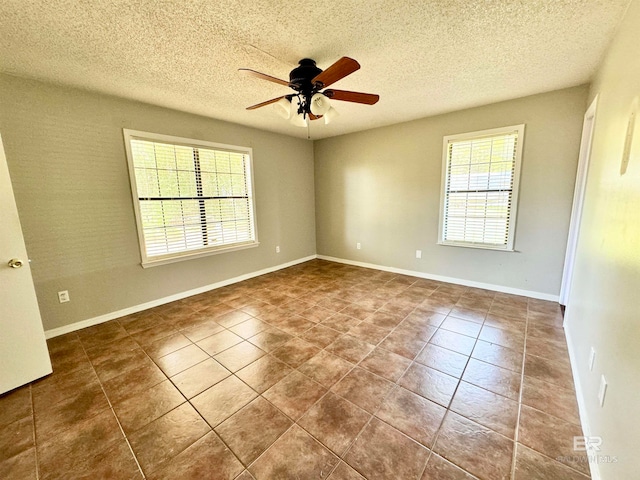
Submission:
[[[292,455],[291,452],[296,452]],[[249,467],[256,480],[323,478],[338,458],[294,425]]]

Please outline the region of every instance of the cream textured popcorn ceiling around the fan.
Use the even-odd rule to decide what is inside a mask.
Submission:
[[[323,138],[589,82],[629,0],[2,0],[0,70],[306,137],[272,108],[303,57],[362,68],[333,85]]]

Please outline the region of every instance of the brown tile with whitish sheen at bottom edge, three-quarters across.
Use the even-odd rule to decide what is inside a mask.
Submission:
[[[511,473],[513,442],[453,412],[447,414],[433,451],[478,478],[506,480]]]

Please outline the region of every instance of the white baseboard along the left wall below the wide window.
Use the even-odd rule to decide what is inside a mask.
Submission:
[[[76,330],[92,327],[100,323],[108,322],[110,320],[115,320],[116,318],[124,317],[126,315],[131,315],[132,313],[137,313],[137,312],[141,312],[142,310],[147,310],[149,308],[157,307],[159,305],[164,305],[165,303],[175,302],[176,300],[182,300],[183,298],[187,298],[192,295],[197,295],[199,293],[208,292],[210,290],[215,290],[217,288],[226,287],[227,285],[232,285],[234,283],[242,282],[250,278],[259,277],[260,275],[265,275],[267,273],[272,273],[278,270],[282,270],[283,268],[292,267],[294,265],[298,265],[299,263],[308,262],[309,260],[313,260],[315,258],[316,258],[316,255],[310,255],[304,258],[298,258],[297,260],[292,260],[287,263],[282,263],[280,265],[275,265],[273,267],[264,268],[256,272],[245,273],[243,275],[229,278],[227,280],[221,280],[220,282],[212,283],[210,285],[205,285],[204,287],[194,288],[192,290],[187,290],[186,292],[175,293],[173,295],[169,295],[168,297],[158,298],[157,300],[152,300],[150,302],[141,303],[139,305],[134,305],[132,307],[123,308],[122,310],[117,310],[115,312],[105,313],[104,315],[88,318],[86,320],[81,320],[79,322],[75,322],[69,325],[64,325],[62,327],[52,328],[51,330],[47,330],[44,332],[45,337],[53,338],[59,335],[64,335],[65,333],[75,332]]]

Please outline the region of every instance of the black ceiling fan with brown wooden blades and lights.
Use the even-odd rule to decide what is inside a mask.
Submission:
[[[326,70],[318,68],[315,60],[303,58],[298,62],[298,66],[289,73],[288,82],[249,68],[241,68],[239,70],[252,77],[291,87],[296,91],[296,93],[290,93],[252,105],[247,107],[247,110],[255,110],[256,108],[274,104],[276,112],[280,116],[290,119],[294,125],[305,127],[307,126],[307,118],[309,120],[324,118],[325,123],[329,123],[330,120],[338,115],[336,109],[331,106],[330,100],[365,105],[373,105],[378,102],[380,96],[371,93],[334,89],[321,91],[359,68],[360,64],[349,57],[342,57]]]

